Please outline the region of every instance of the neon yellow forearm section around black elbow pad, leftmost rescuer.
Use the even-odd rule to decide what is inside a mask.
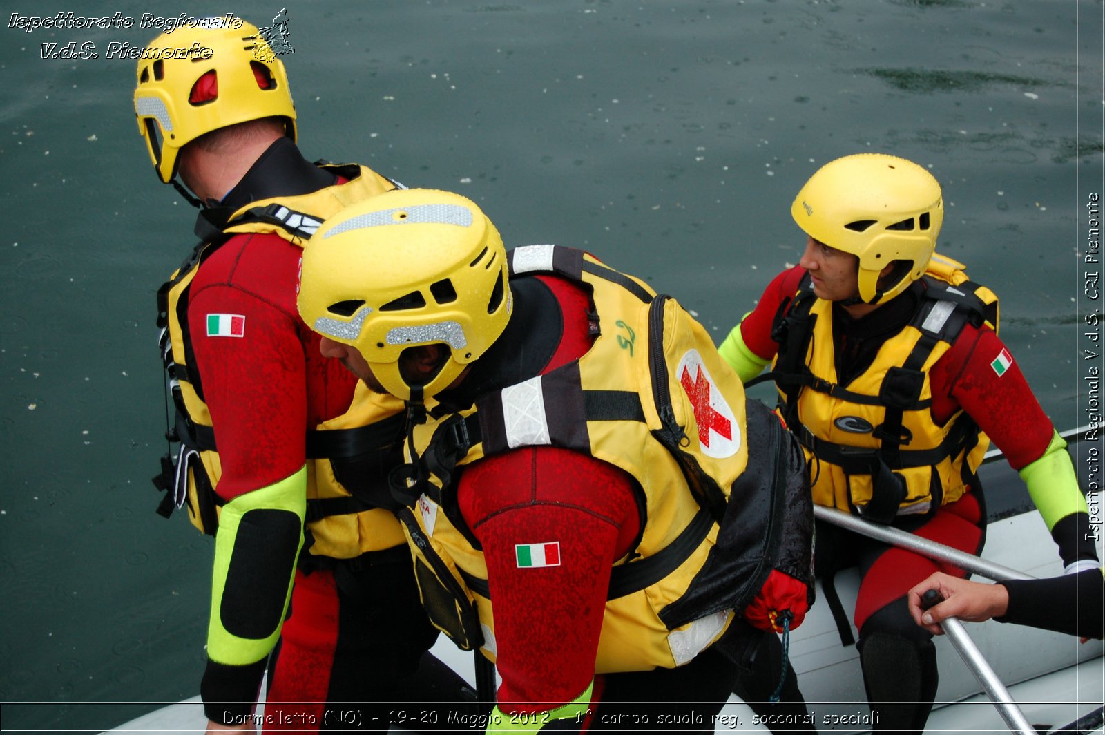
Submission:
[[[296,556],[298,556],[299,549],[303,548],[303,519],[307,514],[307,465],[304,464],[297,472],[280,482],[239,495],[222,506],[219,515],[219,531],[214,537],[211,618],[208,623],[208,657],[219,663],[230,665],[255,663],[269,655],[280,636],[280,626],[263,639],[234,636],[223,627],[219,615],[222,609],[222,594],[227,582],[227,574],[230,570],[234,542],[238,538],[239,523],[242,516],[255,510],[288,511],[299,516],[299,546],[296,549]],[[287,594],[284,597],[284,613],[281,615],[281,620],[287,613],[287,602],[292,597],[294,566],[286,571],[288,575]]]

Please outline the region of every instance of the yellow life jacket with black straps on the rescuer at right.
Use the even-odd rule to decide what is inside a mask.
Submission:
[[[964,267],[933,255],[916,313],[848,385],[836,378],[832,303],[802,280],[772,335],[780,347],[769,375],[806,450],[814,503],[890,523],[935,511],[976,482],[989,439],[962,410],[943,427],[930,410],[933,365],[968,323],[998,327],[998,297]]]

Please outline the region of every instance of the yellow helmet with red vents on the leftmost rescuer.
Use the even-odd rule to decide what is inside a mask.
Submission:
[[[187,143],[228,125],[281,116],[295,140],[284,63],[257,28],[241,19],[219,29],[185,25],[154,39],[138,61],[135,114],[165,183],[177,175],[177,155]]]

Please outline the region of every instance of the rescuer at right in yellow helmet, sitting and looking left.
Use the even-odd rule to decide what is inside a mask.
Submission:
[[[883,154],[833,160],[790,209],[806,233],[720,346],[741,380],[768,363],[779,413],[806,450],[813,502],[958,549],[982,548],[975,474],[990,440],[1020,471],[1066,571],[1096,568],[1090,517],[1065,442],[998,338],[998,300],[936,254],[940,186]],[[862,574],[854,622],[876,729],[920,732],[936,694],[932,634],[906,591],[958,569],[818,524],[818,574],[842,636],[836,569]],[[850,642],[850,640],[849,640]]]

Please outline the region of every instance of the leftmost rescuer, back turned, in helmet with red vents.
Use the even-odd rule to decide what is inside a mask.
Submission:
[[[295,309],[311,233],[397,185],[304,159],[284,64],[257,28],[197,25],[149,44],[134,103],[158,178],[202,208],[200,244],[158,293],[181,451],[155,482],[168,491],[164,515],[187,502],[215,536],[200,686],[209,727],[252,728],[266,661],[269,722],[307,729],[334,702],[474,699],[427,654],[438,633],[399,523],[378,507],[402,459],[402,405],[351,410],[356,379],[320,357]],[[351,458],[360,463],[343,474]],[[420,662],[418,686],[404,689]]]

